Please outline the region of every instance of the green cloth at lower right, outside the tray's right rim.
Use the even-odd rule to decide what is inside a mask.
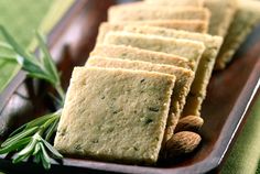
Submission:
[[[260,173],[260,99],[254,104],[246,126],[224,165],[223,174]],[[258,171],[258,172],[257,172]]]

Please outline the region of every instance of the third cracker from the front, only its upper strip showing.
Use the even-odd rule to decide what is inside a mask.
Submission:
[[[142,61],[153,64],[175,65],[188,69],[194,69],[195,66],[193,62],[177,55],[159,53],[123,45],[99,44],[96,45],[94,51],[90,53],[90,56]]]

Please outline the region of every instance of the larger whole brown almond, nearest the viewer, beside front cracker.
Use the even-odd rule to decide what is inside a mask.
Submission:
[[[183,154],[191,153],[198,146],[201,141],[201,135],[194,132],[182,131],[175,133],[166,142],[166,157],[173,159]]]

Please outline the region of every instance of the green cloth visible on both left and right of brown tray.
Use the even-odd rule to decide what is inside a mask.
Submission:
[[[40,26],[53,0],[0,0],[0,24],[3,24],[26,47],[32,41],[33,30]],[[0,40],[2,41],[1,36]],[[17,64],[0,59],[0,93],[11,79],[11,75],[15,75],[17,70],[19,70]],[[221,173],[260,174],[260,167],[258,167],[260,166],[259,115],[260,100],[254,105],[246,127],[235,143]]]

